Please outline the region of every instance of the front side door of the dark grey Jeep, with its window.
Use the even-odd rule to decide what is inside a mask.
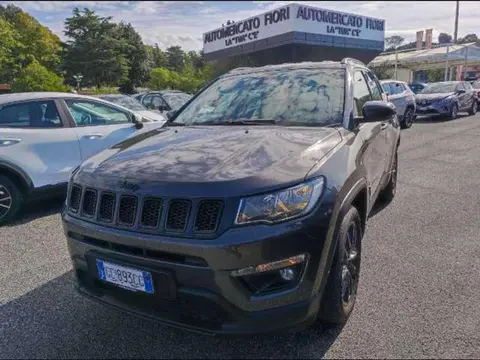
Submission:
[[[373,97],[365,75],[362,70],[357,69],[353,73],[354,116],[361,118],[363,105],[371,100]],[[359,135],[364,142],[363,165],[366,169],[370,195],[373,195],[377,192],[385,167],[385,138],[380,122],[360,123],[359,128]]]

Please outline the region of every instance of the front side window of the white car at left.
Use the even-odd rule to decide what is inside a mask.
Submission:
[[[118,125],[129,123],[129,114],[95,101],[66,100],[77,126]]]

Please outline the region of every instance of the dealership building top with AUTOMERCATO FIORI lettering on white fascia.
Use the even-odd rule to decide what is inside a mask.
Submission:
[[[384,20],[289,4],[203,34],[203,51],[207,61],[248,56],[257,65],[345,57],[369,63],[384,37]]]

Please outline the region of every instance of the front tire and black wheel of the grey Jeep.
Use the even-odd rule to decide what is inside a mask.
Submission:
[[[355,306],[360,279],[362,220],[351,206],[341,219],[337,245],[317,320],[344,325]]]

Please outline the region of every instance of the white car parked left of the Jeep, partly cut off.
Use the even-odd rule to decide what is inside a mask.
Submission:
[[[26,200],[64,194],[83,161],[164,122],[77,94],[0,95],[0,225]]]

